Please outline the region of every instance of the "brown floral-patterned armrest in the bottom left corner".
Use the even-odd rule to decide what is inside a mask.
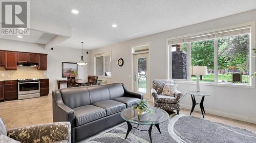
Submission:
[[[20,142],[71,142],[71,126],[69,122],[48,123],[15,128],[7,131],[7,135]]]

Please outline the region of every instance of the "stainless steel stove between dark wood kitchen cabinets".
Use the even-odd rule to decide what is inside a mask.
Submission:
[[[18,79],[18,100],[40,97],[40,79]]]

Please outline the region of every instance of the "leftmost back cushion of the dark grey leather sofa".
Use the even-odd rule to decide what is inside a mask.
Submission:
[[[63,103],[70,108],[90,105],[90,96],[87,87],[72,87],[59,89]]]

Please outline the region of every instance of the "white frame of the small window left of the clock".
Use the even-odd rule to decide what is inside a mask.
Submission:
[[[97,63],[96,63],[96,58],[97,57],[103,57],[103,74],[105,73],[105,54],[110,53],[110,76],[104,76],[104,75],[97,75]],[[106,51],[106,52],[100,52],[94,54],[94,75],[100,77],[100,78],[111,78],[112,77],[112,52],[111,51]]]

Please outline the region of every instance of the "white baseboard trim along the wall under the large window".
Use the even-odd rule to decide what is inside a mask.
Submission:
[[[188,106],[188,105],[180,104],[180,107],[184,108],[184,109],[191,110],[191,106]],[[197,106],[195,107],[194,110],[201,112],[200,108]],[[249,122],[249,123],[256,124],[256,118],[250,118],[248,116],[230,114],[230,113],[216,111],[216,110],[210,110],[210,109],[206,109],[206,108],[205,108],[205,112],[206,112],[206,114],[209,113],[209,114],[218,115],[218,116],[222,116],[222,117],[232,118],[234,120],[239,120],[239,121],[243,121],[243,122]]]

